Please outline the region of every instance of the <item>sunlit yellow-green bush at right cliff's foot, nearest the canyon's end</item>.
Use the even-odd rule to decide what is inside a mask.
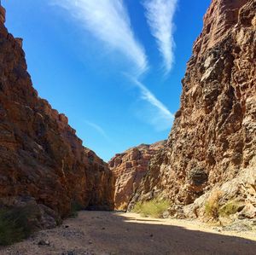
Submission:
[[[163,217],[163,213],[170,207],[167,200],[154,199],[146,202],[137,202],[133,212],[140,213],[143,217]]]

